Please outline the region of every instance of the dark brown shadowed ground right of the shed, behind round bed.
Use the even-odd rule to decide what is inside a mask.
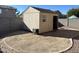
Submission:
[[[76,30],[66,30],[66,29],[58,29],[56,31],[43,33],[43,36],[54,36],[54,37],[62,37],[62,38],[73,38],[79,39],[79,31]],[[78,36],[78,37],[76,37]]]

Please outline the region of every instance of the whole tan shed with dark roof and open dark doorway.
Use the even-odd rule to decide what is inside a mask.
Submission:
[[[22,13],[23,22],[28,30],[36,33],[57,29],[58,15],[48,9],[29,7]]]

